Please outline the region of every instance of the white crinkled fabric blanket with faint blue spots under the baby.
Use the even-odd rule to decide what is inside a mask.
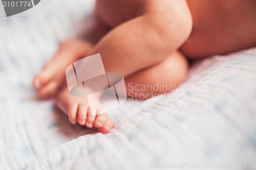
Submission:
[[[127,101],[109,112],[115,129],[106,135],[71,125],[53,100],[38,100],[33,76],[60,40],[90,27],[86,16],[93,5],[43,0],[24,13],[0,17],[0,169],[255,162],[256,48],[199,61],[177,90]]]

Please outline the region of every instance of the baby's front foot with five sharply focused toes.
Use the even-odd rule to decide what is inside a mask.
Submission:
[[[102,109],[90,107],[84,97],[70,95],[67,87],[58,92],[56,104],[74,125],[79,123],[88,128],[96,127],[98,132],[104,134],[114,127],[112,119]]]

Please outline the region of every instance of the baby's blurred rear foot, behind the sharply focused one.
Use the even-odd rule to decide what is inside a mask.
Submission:
[[[65,70],[73,62],[88,56],[92,45],[81,40],[66,40],[60,43],[58,52],[35,76],[33,85],[41,98],[54,96],[62,83],[65,83]]]

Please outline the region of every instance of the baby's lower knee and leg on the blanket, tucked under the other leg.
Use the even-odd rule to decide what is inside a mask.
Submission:
[[[162,62],[125,78],[127,96],[130,99],[145,100],[168,93],[184,81],[187,70],[186,58],[176,51]]]

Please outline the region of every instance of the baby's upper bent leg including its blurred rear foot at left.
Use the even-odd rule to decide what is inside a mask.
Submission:
[[[170,53],[175,52],[189,37],[192,29],[186,1],[145,2],[149,3],[142,3],[139,8],[144,9],[143,13],[138,12],[140,14],[135,18],[116,25],[117,27],[104,35],[95,46],[86,41],[62,43],[55,57],[33,81],[39,96],[54,96],[65,78],[67,66],[81,57],[100,53],[106,72],[120,72],[128,77],[138,70],[165,60]],[[113,20],[112,15],[108,15],[112,11],[106,9],[109,8],[102,5],[97,8],[96,13],[104,21]],[[121,15],[116,16],[121,19]]]

